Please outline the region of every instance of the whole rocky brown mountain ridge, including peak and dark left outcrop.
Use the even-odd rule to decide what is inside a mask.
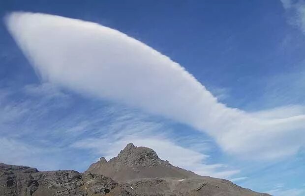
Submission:
[[[224,179],[200,176],[161,160],[150,148],[128,144],[86,172],[40,172],[0,163],[0,196],[270,196]]]

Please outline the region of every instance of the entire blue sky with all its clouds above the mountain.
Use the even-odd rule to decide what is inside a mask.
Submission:
[[[128,143],[305,195],[305,1],[0,0],[0,162],[85,171]]]

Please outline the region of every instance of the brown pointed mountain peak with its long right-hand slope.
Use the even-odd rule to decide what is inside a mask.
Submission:
[[[88,171],[111,177],[143,196],[269,196],[175,167],[152,149],[133,144],[108,162],[102,157]]]

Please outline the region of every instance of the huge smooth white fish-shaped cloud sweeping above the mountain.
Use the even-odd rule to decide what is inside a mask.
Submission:
[[[304,145],[304,114],[226,107],[178,63],[118,30],[25,12],[5,23],[43,80],[189,124],[235,154],[276,158]]]

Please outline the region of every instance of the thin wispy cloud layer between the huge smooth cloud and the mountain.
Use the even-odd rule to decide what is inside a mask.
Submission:
[[[84,171],[100,156],[110,159],[127,143],[133,142],[137,146],[155,149],[162,159],[175,166],[202,175],[227,178],[240,172],[224,164],[208,164],[211,161],[207,155],[211,149],[208,140],[204,143],[203,138],[192,136],[185,140],[173,134],[174,131],[163,121],[137,110],[116,104],[98,106],[93,103],[90,110],[88,107],[91,106],[82,100],[84,110],[60,115],[75,107],[69,104],[75,98],[51,84],[32,84],[8,92],[6,95],[11,97],[3,97],[0,113],[12,111],[12,108],[24,112],[6,116],[9,121],[5,122],[4,116],[0,117],[1,162],[40,170]],[[23,99],[12,98],[17,95]],[[81,162],[74,164],[76,158]]]

